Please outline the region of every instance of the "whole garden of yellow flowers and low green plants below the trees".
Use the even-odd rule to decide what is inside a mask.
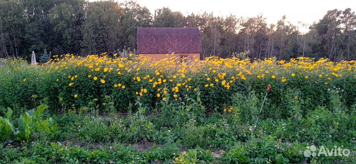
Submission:
[[[355,61],[323,58],[5,59],[0,163],[353,163],[355,86]]]

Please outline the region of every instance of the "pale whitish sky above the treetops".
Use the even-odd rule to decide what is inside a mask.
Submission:
[[[89,0],[97,1],[97,0]],[[123,0],[115,0],[122,2]],[[214,12],[215,16],[254,17],[263,14],[267,23],[276,23],[283,15],[294,25],[298,22],[312,24],[322,19],[328,10],[356,9],[356,0],[136,0],[146,6],[152,14],[154,10],[169,7],[187,15],[192,12]]]

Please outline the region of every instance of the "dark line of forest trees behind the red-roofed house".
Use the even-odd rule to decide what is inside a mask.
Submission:
[[[52,55],[115,52],[136,47],[137,27],[199,27],[202,57],[289,59],[297,56],[356,59],[356,16],[351,8],[333,9],[311,25],[293,25],[282,16],[266,17],[181,12],[148,8],[135,1],[1,0],[0,57],[29,58],[32,51]],[[309,28],[307,33],[301,27]]]

